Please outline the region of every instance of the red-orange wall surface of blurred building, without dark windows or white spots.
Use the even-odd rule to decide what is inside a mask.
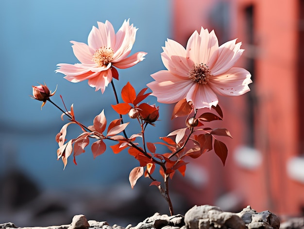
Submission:
[[[186,46],[194,30],[201,26],[211,31],[208,14],[218,1],[174,0],[173,38]],[[223,168],[213,152],[193,163],[201,164],[209,174],[207,187],[184,190],[195,196],[193,204],[213,204],[220,194],[235,192],[243,204],[256,211],[270,210],[278,214],[299,214],[304,205],[304,184],[288,178],[286,162],[298,152],[297,103],[297,0],[231,0],[229,39],[238,37],[246,51],[238,66],[246,68],[246,56],[255,55],[254,82],[250,87],[257,100],[255,111],[255,148],[263,156],[255,170],[238,167],[233,159],[237,146],[246,142],[246,96],[221,98],[224,121],[234,139],[223,139],[228,146],[228,159]],[[244,9],[254,5],[254,45],[246,43]],[[215,30],[216,34],[217,31]],[[219,37],[220,38],[220,37]],[[191,164],[189,165],[191,166]],[[183,181],[181,181],[183,182]],[[193,192],[193,193],[192,193]],[[199,193],[193,195],[194,193]]]

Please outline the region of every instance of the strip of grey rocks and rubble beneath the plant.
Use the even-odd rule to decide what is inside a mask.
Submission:
[[[168,216],[155,213],[136,226],[110,226],[106,221],[87,220],[84,215],[75,215],[71,224],[49,227],[20,228],[14,223],[0,224],[0,229],[304,229],[304,218],[292,218],[280,223],[270,211],[256,212],[250,206],[239,213],[222,211],[219,207],[194,206],[185,216]]]

